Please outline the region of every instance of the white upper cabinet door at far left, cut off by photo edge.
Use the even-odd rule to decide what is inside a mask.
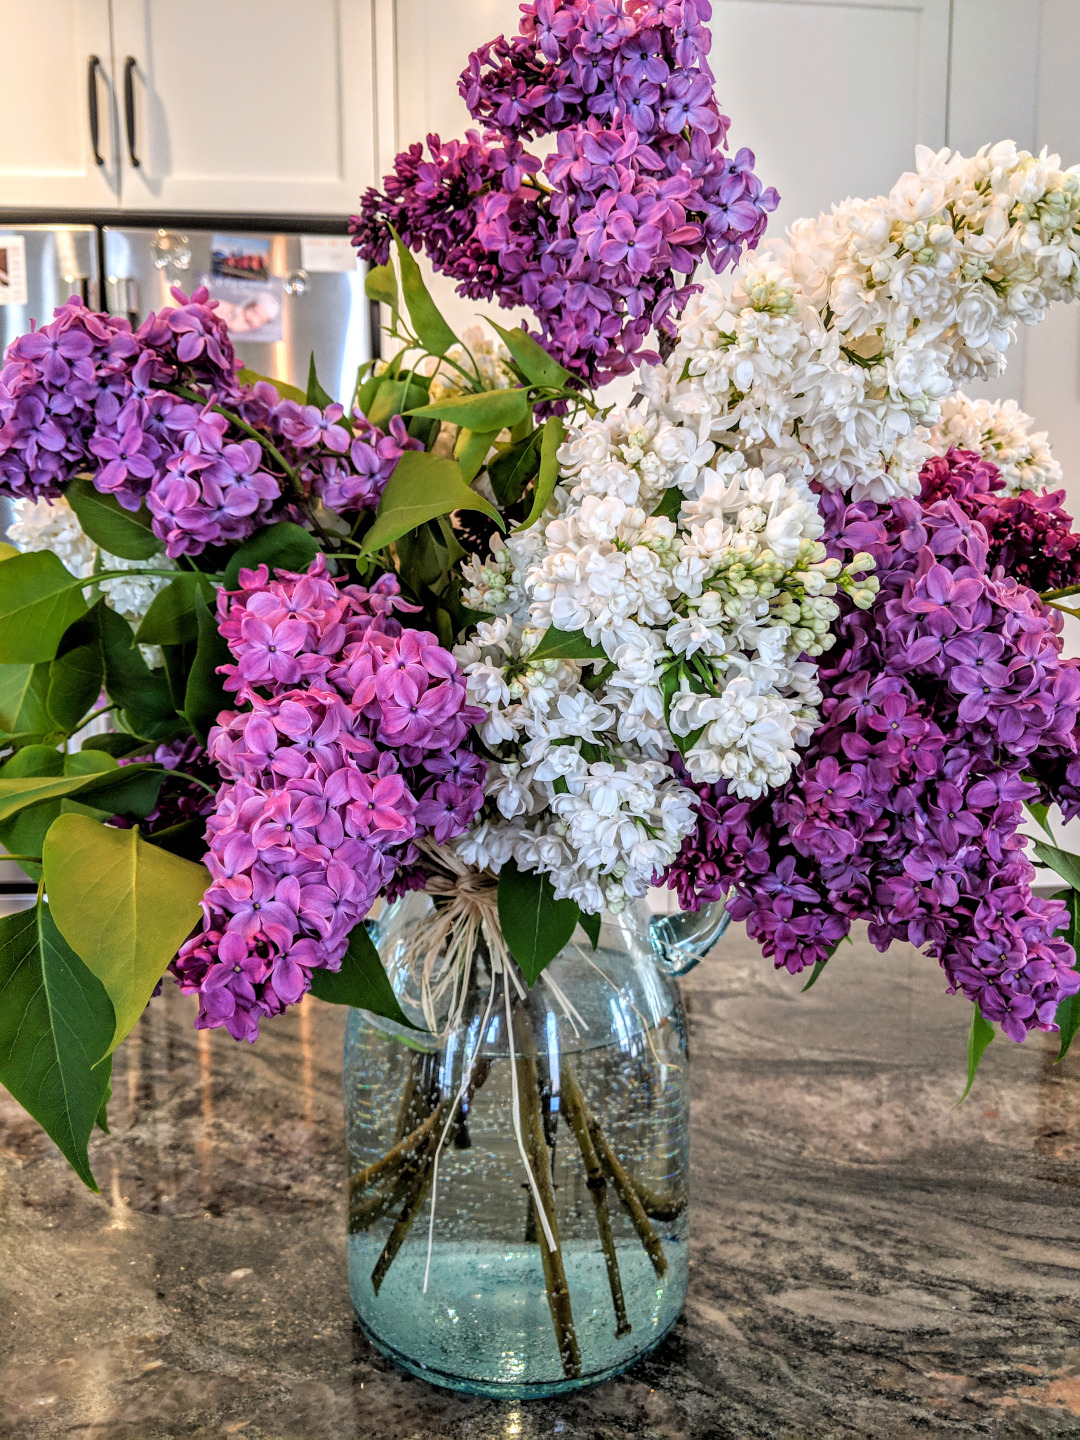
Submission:
[[[0,0],[0,206],[114,207],[108,0]]]

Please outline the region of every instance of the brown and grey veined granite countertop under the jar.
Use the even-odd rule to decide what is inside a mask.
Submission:
[[[101,1195],[0,1094],[0,1436],[1080,1437],[1080,1054],[999,1040],[953,1109],[969,1007],[864,939],[801,995],[733,926],[685,996],[685,1313],[626,1375],[513,1404],[354,1329],[344,1015],[252,1048],[166,986],[117,1056]]]

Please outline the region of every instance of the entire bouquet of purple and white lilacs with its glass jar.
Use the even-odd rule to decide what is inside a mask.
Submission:
[[[495,1394],[678,1316],[675,976],[729,914],[805,984],[854,920],[936,958],[969,1086],[998,1028],[1080,1022],[1080,861],[1037,844],[1040,899],[1020,832],[1080,811],[1080,540],[1045,436],[960,390],[1080,291],[1080,179],[919,151],[760,245],[707,19],[539,0],[471,58],[482,131],[354,222],[389,357],[347,405],[239,370],[200,291],[69,302],[0,372],[0,844],[39,883],[0,1080],[92,1185],[166,972],[236,1040],[350,1007],[357,1315]],[[420,249],[534,328],[456,337]]]

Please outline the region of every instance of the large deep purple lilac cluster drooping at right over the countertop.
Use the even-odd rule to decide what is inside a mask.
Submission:
[[[1057,935],[1066,907],[1031,893],[1018,827],[1038,795],[1031,768],[1077,755],[1061,618],[988,573],[986,533],[952,497],[821,507],[831,554],[874,556],[878,599],[841,602],[796,775],[756,802],[701,788],[668,884],[685,907],[733,887],[732,914],[792,972],[864,919],[881,950],[927,948],[1011,1038],[1050,1030],[1080,972]]]

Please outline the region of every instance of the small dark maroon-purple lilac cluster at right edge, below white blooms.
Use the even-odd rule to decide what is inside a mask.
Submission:
[[[923,504],[952,498],[979,521],[991,570],[999,564],[1035,592],[1080,583],[1080,534],[1061,508],[1064,490],[1007,495],[996,465],[958,449],[929,461],[920,478]]]

